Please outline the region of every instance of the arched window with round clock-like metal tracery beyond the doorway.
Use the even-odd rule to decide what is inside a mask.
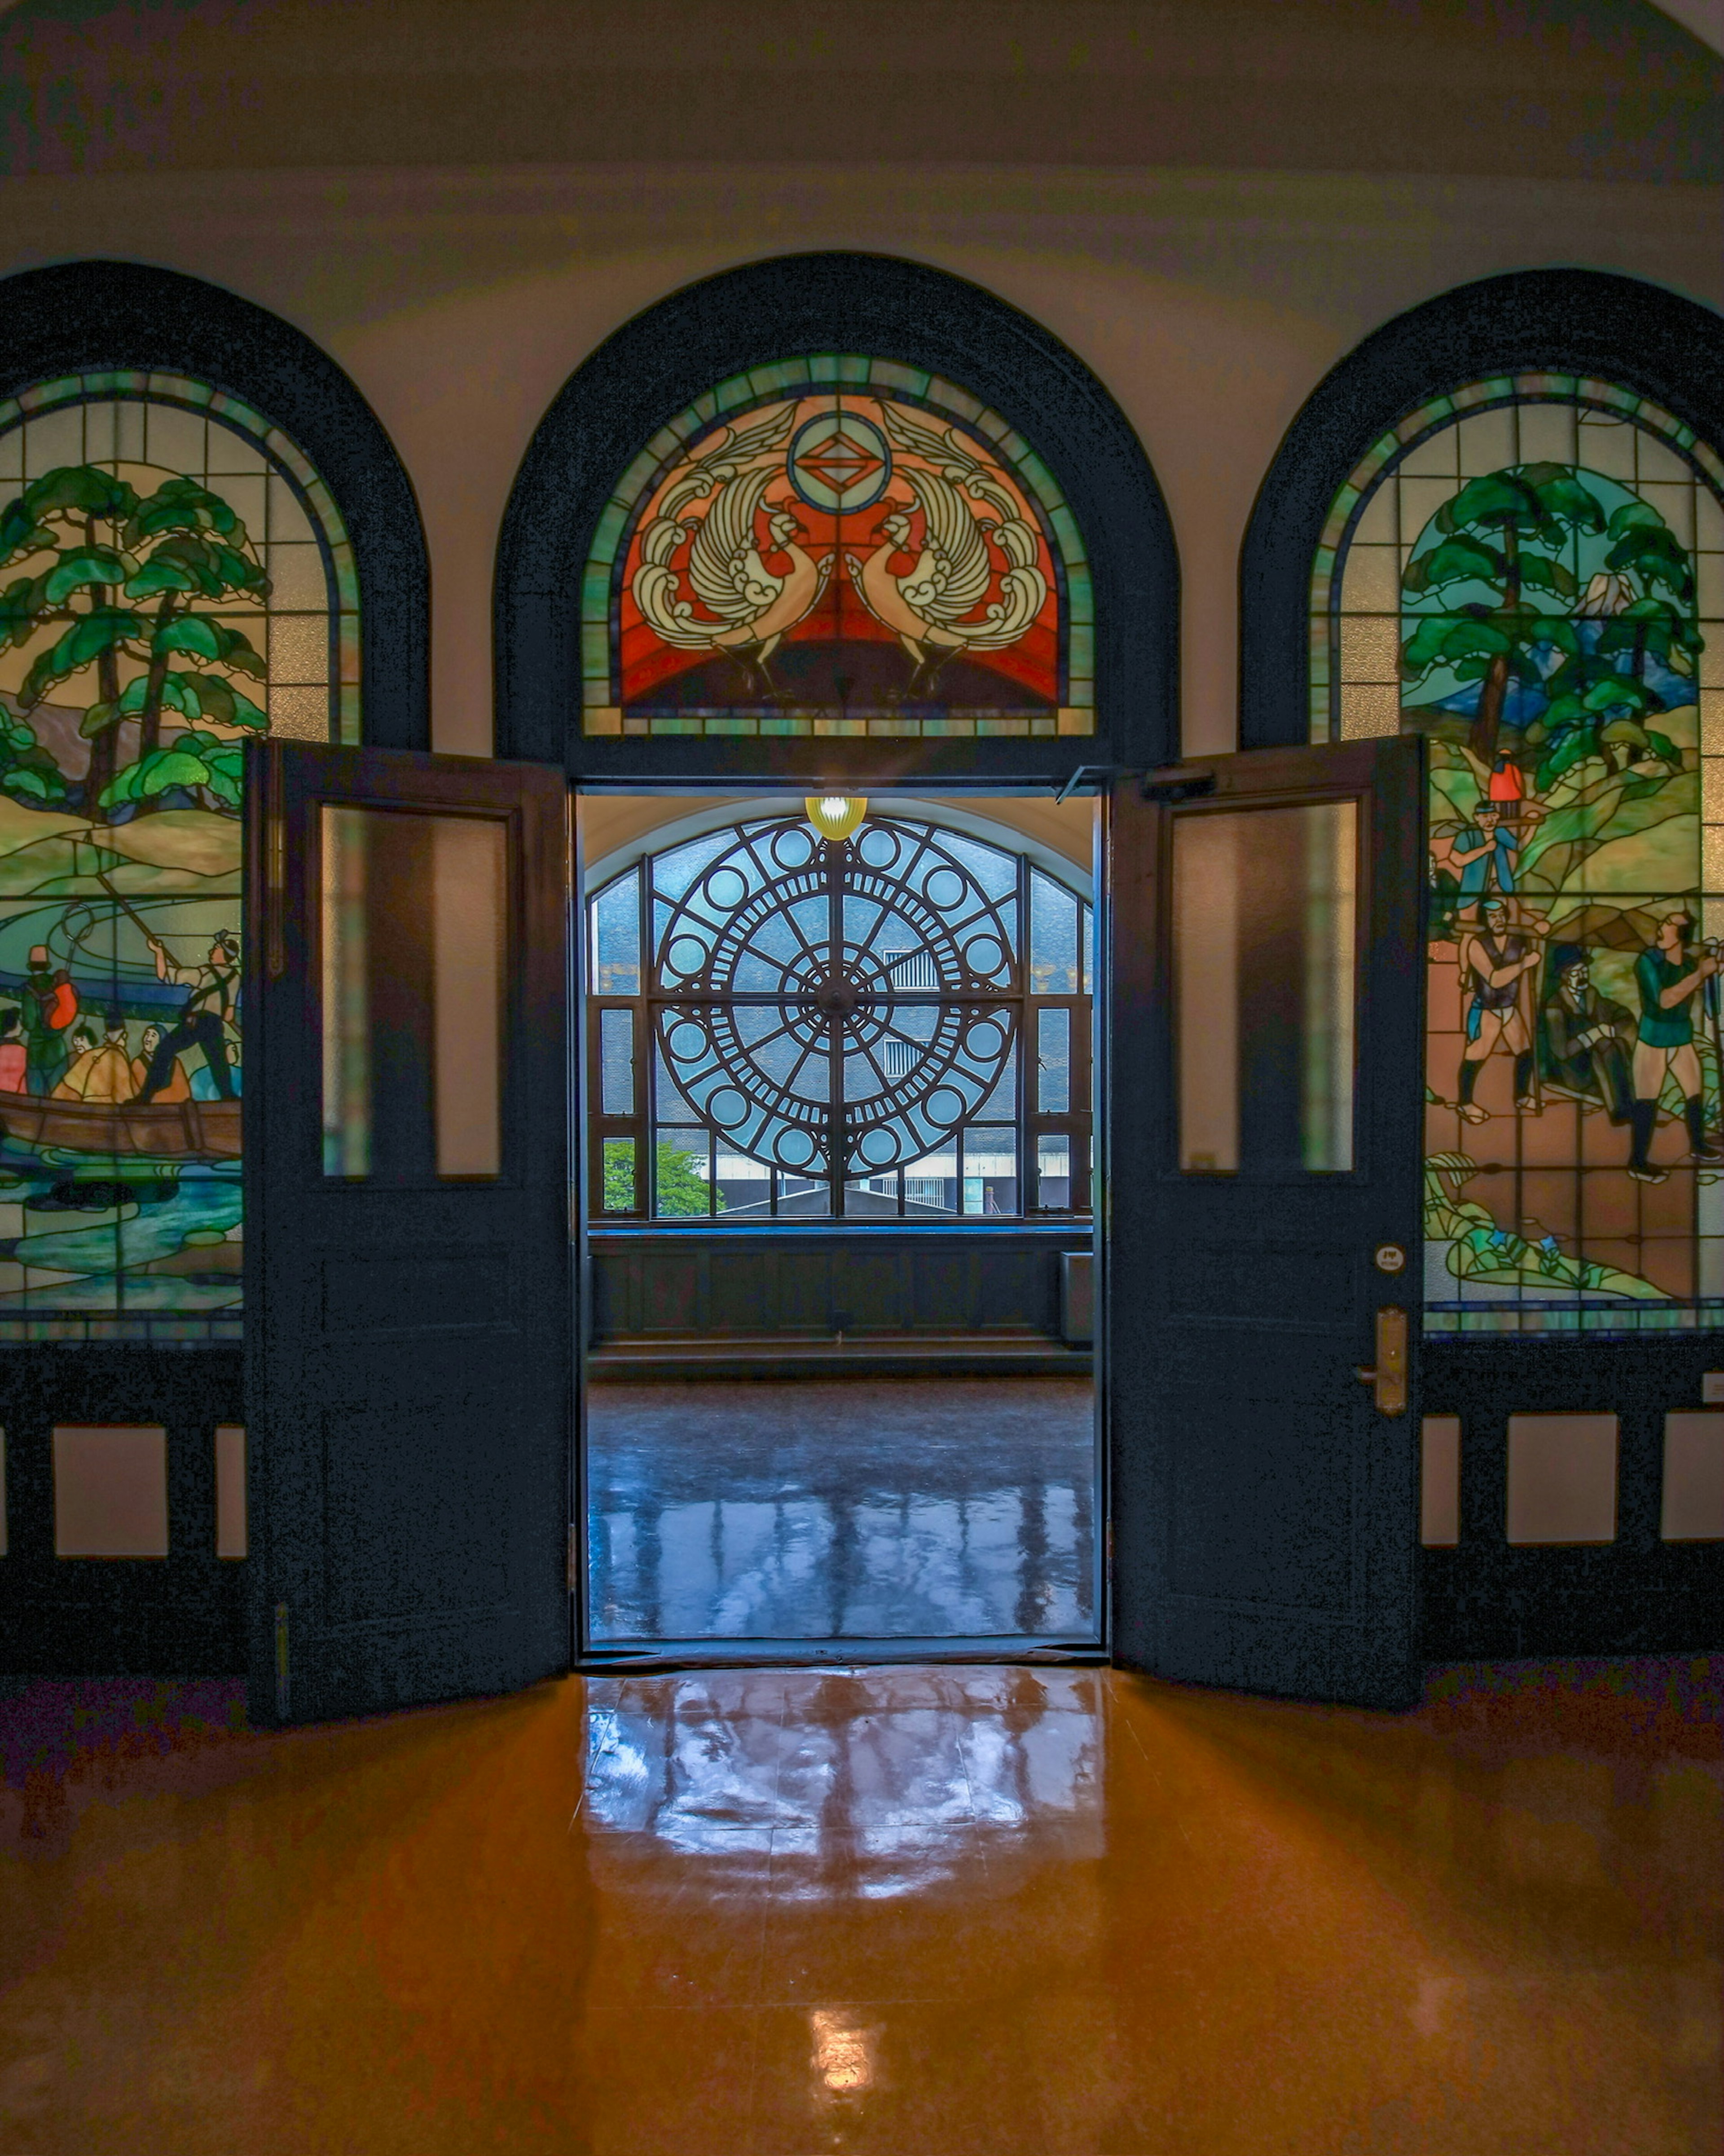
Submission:
[[[914,815],[795,815],[590,901],[595,1216],[1088,1212],[1090,908]]]

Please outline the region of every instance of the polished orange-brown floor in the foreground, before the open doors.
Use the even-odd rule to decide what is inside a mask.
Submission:
[[[1694,2156],[1711,1662],[4,1710],[0,2156]]]

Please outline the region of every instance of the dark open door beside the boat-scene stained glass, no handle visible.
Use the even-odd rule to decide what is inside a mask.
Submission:
[[[567,789],[248,750],[250,1712],[569,1667]]]

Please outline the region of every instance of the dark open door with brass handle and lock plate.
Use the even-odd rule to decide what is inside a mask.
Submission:
[[[1164,1677],[1418,1697],[1420,752],[1114,787],[1112,1641]]]

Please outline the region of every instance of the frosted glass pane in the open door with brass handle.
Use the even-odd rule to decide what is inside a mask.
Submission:
[[[1353,1164],[1358,808],[1174,819],[1179,1164]]]

